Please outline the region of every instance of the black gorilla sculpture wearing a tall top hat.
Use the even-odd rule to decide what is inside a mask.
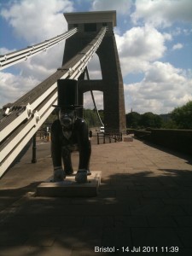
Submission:
[[[79,170],[75,176],[78,183],[87,182],[90,175],[91,146],[88,125],[77,116],[78,81],[61,79],[57,82],[59,119],[51,126],[51,154],[54,181],[62,181],[73,174],[71,153],[79,150]],[[64,170],[62,168],[62,161]]]

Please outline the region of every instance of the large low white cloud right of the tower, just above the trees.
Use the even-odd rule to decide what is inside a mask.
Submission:
[[[125,84],[125,105],[139,113],[168,113],[192,100],[192,79],[169,63],[150,64],[140,83]]]

